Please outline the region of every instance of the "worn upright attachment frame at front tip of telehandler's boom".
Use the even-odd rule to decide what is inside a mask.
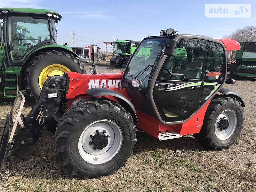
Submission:
[[[24,95],[19,91],[17,97],[14,100],[12,109],[9,115],[6,117],[6,122],[4,124],[4,130],[1,137],[0,145],[0,170],[4,171],[6,167],[7,157],[10,156],[11,148],[14,143],[13,135],[16,130],[17,125],[23,125],[23,120],[21,118],[21,111],[25,103]]]

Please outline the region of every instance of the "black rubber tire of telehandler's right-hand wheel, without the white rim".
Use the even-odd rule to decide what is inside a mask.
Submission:
[[[228,137],[226,140],[220,140],[215,133],[215,123],[219,115],[227,109],[231,109],[235,112],[237,124],[235,131],[230,137]],[[206,110],[203,126],[200,132],[194,134],[194,136],[201,145],[207,148],[213,150],[228,149],[232,144],[236,143],[236,139],[240,136],[243,128],[243,123],[244,108],[241,106],[241,102],[233,97],[217,96],[215,99],[212,99]]]

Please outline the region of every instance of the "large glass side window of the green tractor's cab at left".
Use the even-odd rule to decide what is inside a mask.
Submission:
[[[22,62],[38,43],[50,39],[47,19],[11,16],[8,19],[8,44],[11,60]]]

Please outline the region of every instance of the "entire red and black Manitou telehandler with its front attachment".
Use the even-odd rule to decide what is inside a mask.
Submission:
[[[1,170],[8,156],[33,145],[52,121],[58,121],[61,163],[84,179],[124,166],[136,144],[136,128],[159,140],[194,134],[205,147],[228,149],[240,136],[245,107],[239,94],[221,88],[235,84],[226,79],[230,46],[228,39],[162,30],[140,42],[121,73],[98,74],[91,68],[92,74],[49,77],[27,117],[21,114],[20,92],[2,134]],[[137,57],[145,48],[150,56]],[[172,62],[175,48],[186,49],[185,63]]]

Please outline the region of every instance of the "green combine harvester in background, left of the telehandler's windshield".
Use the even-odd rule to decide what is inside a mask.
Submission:
[[[126,65],[135,51],[136,47],[140,44],[140,41],[132,41],[132,40],[117,40],[113,41],[114,49],[113,57],[110,60],[110,65],[116,65],[118,67],[122,67],[124,64]]]

